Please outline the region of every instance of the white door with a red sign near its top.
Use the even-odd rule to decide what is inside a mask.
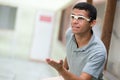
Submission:
[[[54,27],[54,13],[39,11],[36,16],[35,30],[30,58],[45,60],[50,55],[51,40]]]

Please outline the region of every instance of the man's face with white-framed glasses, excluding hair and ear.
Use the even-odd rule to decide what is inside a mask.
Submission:
[[[85,10],[72,10],[71,26],[74,34],[84,34],[91,29],[88,15],[88,12]]]

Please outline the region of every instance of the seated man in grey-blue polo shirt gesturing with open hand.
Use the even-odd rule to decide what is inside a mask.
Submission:
[[[71,12],[71,28],[66,32],[64,62],[46,59],[65,80],[103,80],[106,49],[92,30],[96,16],[93,5],[77,3]]]

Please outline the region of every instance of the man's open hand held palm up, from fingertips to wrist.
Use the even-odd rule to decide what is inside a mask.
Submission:
[[[60,60],[59,62],[54,61],[52,59],[46,59],[46,62],[51,65],[53,68],[55,68],[58,72],[63,70],[63,60]]]

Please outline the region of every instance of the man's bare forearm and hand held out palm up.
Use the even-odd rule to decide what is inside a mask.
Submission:
[[[53,68],[55,68],[59,72],[59,74],[62,75],[62,77],[65,80],[91,80],[92,79],[92,76],[85,72],[81,73],[81,75],[79,77],[72,74],[64,67],[63,60],[56,62],[54,60],[47,59],[46,61],[49,65],[51,65]]]

